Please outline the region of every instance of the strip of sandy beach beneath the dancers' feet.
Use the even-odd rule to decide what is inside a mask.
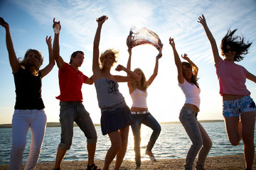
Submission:
[[[159,159],[157,162],[144,161],[142,162],[142,170],[151,170],[151,169],[163,169],[163,170],[173,170],[173,169],[183,169],[184,159]],[[255,159],[256,161],[256,159]],[[253,169],[256,169],[256,164],[253,164]],[[95,161],[95,164],[102,168],[104,161]],[[63,162],[63,170],[70,169],[86,169],[87,162]],[[36,169],[53,169],[54,162],[38,163]],[[22,168],[24,167],[24,164]],[[9,169],[9,165],[0,165],[1,170]],[[110,169],[114,169],[114,161],[110,165]],[[124,161],[120,170],[131,170],[135,169],[135,162],[133,161]],[[221,157],[208,157],[206,159],[205,169],[213,170],[242,170],[245,169],[245,162],[243,155],[230,155],[230,156],[221,156]]]

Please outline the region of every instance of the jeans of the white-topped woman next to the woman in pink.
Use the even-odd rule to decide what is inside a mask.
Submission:
[[[181,108],[179,119],[192,142],[186,156],[186,164],[184,165],[185,169],[189,170],[193,169],[193,162],[195,161],[198,152],[199,154],[198,161],[196,162],[196,169],[203,169],[204,163],[206,162],[206,157],[212,146],[210,137],[208,136],[206,130],[204,130],[201,123],[198,122],[196,116],[196,111],[194,111],[190,106],[183,106],[183,108]]]

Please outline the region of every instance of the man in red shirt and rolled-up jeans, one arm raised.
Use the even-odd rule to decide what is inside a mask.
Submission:
[[[53,20],[53,28],[59,25],[60,21]],[[61,27],[60,27],[61,28]],[[59,33],[55,33],[53,41],[53,56],[59,68],[58,77],[60,85],[60,125],[61,135],[58,152],[56,155],[54,169],[60,169],[60,164],[65,154],[72,145],[73,123],[77,123],[87,137],[88,164],[87,170],[97,170],[94,164],[97,133],[90,118],[90,114],[82,105],[82,84],[93,84],[92,77],[88,78],[78,70],[84,60],[82,51],[73,52],[70,63],[63,61],[60,57]]]

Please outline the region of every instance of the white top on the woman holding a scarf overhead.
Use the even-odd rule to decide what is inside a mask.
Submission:
[[[146,91],[141,91],[139,89],[135,89],[132,91],[131,97],[132,97],[132,107],[136,108],[147,108],[146,106]]]

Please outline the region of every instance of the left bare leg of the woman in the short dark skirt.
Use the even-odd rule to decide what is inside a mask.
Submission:
[[[120,137],[118,130],[114,132],[110,132],[108,135],[111,140],[111,147],[107,151],[103,170],[109,169],[110,163],[113,161],[114,157],[117,155],[117,152],[119,151],[122,144],[122,139]]]

